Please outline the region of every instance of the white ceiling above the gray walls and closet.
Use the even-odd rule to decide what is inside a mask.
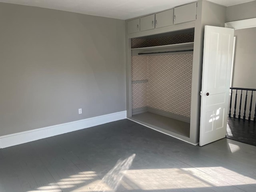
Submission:
[[[173,8],[195,0],[0,0],[0,2],[63,10],[117,19],[129,19]],[[232,6],[253,0],[209,0]]]

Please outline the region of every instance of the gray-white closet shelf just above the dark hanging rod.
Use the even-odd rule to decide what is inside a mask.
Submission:
[[[131,50],[162,50],[162,49],[193,49],[194,42],[188,42],[188,43],[179,43],[179,44],[170,44],[170,45],[161,45],[161,46],[153,46],[153,47],[141,47],[141,48],[132,48]]]

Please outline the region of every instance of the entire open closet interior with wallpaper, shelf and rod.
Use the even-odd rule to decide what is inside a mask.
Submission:
[[[190,137],[194,28],[131,39],[132,117]]]

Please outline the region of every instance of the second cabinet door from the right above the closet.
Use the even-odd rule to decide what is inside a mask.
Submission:
[[[156,28],[173,25],[173,9],[156,14]]]

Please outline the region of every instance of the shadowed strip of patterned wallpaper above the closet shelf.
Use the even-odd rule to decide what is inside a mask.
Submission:
[[[187,42],[194,42],[194,33],[177,34],[151,39],[133,38],[131,40],[131,48],[151,47]]]

